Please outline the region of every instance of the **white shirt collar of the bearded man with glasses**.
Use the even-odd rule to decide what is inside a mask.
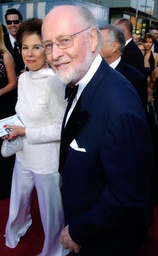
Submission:
[[[93,63],[90,65],[90,69],[86,73],[86,75],[80,81],[78,81],[76,83],[76,84],[79,84],[77,94],[76,94],[77,100],[80,97],[80,95],[82,93],[82,90],[84,90],[85,86],[89,83],[89,81],[94,76],[94,74],[97,71],[99,65],[101,64],[101,61],[102,61],[102,57],[101,57],[101,55],[98,54],[97,57],[95,57],[95,59],[93,60]]]

